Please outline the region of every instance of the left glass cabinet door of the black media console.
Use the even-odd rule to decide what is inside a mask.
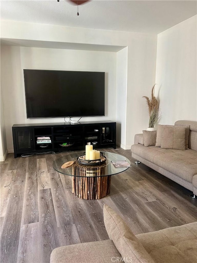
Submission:
[[[16,129],[16,148],[21,150],[33,150],[33,130],[32,129]]]

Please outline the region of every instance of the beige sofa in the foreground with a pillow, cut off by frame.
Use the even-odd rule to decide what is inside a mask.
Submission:
[[[110,207],[103,207],[109,240],[56,248],[50,263],[191,263],[197,262],[197,222],[134,235]]]

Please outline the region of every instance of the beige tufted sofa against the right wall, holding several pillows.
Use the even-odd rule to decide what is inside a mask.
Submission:
[[[144,146],[143,134],[135,135],[132,157],[197,195],[197,122],[176,121],[175,125],[190,125],[188,150]]]

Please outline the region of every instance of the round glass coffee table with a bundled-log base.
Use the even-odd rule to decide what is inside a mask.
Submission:
[[[64,175],[72,176],[72,192],[81,199],[101,199],[110,193],[111,176],[126,171],[129,167],[115,168],[111,161],[127,161],[128,158],[115,153],[102,152],[106,162],[101,165],[79,164],[77,159],[84,152],[72,153],[58,158],[53,162],[53,168]],[[61,166],[68,161],[74,161],[68,168]]]

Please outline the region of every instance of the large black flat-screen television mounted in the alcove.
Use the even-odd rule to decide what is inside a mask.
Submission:
[[[105,72],[24,69],[27,118],[105,115]]]

